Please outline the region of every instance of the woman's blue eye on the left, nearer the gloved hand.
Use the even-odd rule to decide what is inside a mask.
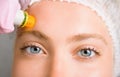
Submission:
[[[21,48],[22,51],[24,51],[25,53],[28,54],[43,54],[43,50],[42,48],[38,47],[38,46],[25,46],[23,48]]]

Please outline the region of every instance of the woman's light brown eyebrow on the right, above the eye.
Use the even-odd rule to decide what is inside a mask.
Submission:
[[[69,38],[68,42],[82,41],[82,40],[87,40],[87,39],[91,39],[91,38],[101,40],[104,44],[107,45],[107,41],[106,41],[105,37],[103,37],[100,34],[86,34],[86,33],[78,34],[78,35],[74,35],[71,38]]]

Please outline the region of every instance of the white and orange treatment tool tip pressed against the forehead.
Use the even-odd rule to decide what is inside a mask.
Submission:
[[[32,28],[35,25],[35,18],[27,12],[19,10],[16,14],[14,25],[22,28]]]

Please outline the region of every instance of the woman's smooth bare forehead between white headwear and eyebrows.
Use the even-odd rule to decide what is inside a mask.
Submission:
[[[27,11],[36,18],[33,30],[40,31],[53,39],[81,33],[108,36],[102,19],[95,11],[81,4],[42,1],[33,4]]]

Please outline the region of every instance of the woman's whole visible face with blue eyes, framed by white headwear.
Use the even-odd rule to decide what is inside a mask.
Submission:
[[[81,4],[42,1],[18,31],[13,77],[112,77],[113,46],[102,19]]]

